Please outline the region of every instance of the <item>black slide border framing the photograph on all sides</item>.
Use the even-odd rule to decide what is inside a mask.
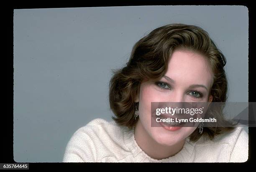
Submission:
[[[45,2],[43,2],[45,3]],[[62,8],[62,7],[106,7],[106,6],[138,6],[138,5],[243,5],[248,8],[249,11],[249,102],[256,102],[255,94],[255,84],[253,82],[255,72],[255,52],[253,52],[253,47],[255,47],[254,41],[255,40],[255,33],[253,32],[255,30],[253,17],[255,16],[255,12],[253,9],[252,1],[213,1],[213,2],[195,2],[190,0],[183,0],[182,2],[176,1],[173,2],[168,0],[160,0],[160,1],[145,1],[145,2],[132,2],[132,1],[126,1],[126,2],[100,2],[101,4],[98,4],[97,2],[86,2],[86,4],[77,4],[77,5],[70,5],[66,4],[64,2],[45,5],[45,4],[33,4],[33,3],[26,3],[26,2],[19,2],[15,3],[14,5],[9,6],[3,6],[1,12],[2,14],[2,31],[3,37],[5,38],[4,41],[2,41],[3,50],[2,52],[5,52],[4,55],[2,55],[2,60],[6,60],[2,62],[2,67],[6,67],[6,69],[2,72],[2,76],[4,76],[7,80],[2,81],[2,85],[5,89],[2,89],[2,91],[6,94],[2,97],[2,100],[4,102],[3,105],[3,121],[2,121],[2,141],[1,146],[3,149],[3,154],[0,156],[1,160],[0,163],[15,163],[13,160],[13,10],[14,9],[28,9],[28,8]],[[239,27],[239,23],[238,23]],[[8,72],[7,72],[8,71]],[[8,75],[6,75],[8,73]],[[6,110],[6,112],[5,112]],[[255,134],[256,128],[255,127],[249,127],[249,159],[245,163],[186,163],[186,166],[188,165],[200,165],[200,167],[208,167],[209,165],[214,166],[224,166],[224,167],[230,167],[231,166],[247,166],[247,165],[253,165],[255,161],[255,138],[253,135]],[[3,144],[3,145],[2,145]],[[82,168],[85,170],[84,167],[109,167],[111,166],[123,166],[126,165],[131,167],[139,167],[143,165],[143,167],[157,167],[159,164],[156,163],[29,163],[30,169],[77,169]],[[169,163],[167,164],[161,164],[165,167],[169,167]],[[167,166],[166,166],[167,165]],[[172,169],[176,165],[180,166],[179,163],[172,163]],[[184,164],[183,164],[184,165]],[[171,170],[171,169],[170,169]],[[202,170],[202,169],[197,169]]]

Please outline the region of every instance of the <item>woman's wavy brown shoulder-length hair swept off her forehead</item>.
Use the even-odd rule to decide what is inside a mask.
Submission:
[[[167,71],[169,57],[177,49],[191,50],[208,59],[214,75],[209,95],[212,95],[212,102],[226,102],[228,90],[224,70],[226,59],[208,33],[195,25],[164,25],[136,42],[125,67],[113,70],[109,84],[109,102],[110,109],[115,114],[112,118],[118,125],[132,128],[136,124],[138,118],[134,120],[134,107],[141,82],[145,79],[161,79]],[[218,127],[224,126],[225,122],[228,123],[223,117],[223,107],[215,107],[214,112],[207,112],[221,124],[204,127],[202,134],[196,129],[190,135],[191,141],[198,140],[202,135],[207,135],[212,140],[215,135],[233,129],[233,127]]]

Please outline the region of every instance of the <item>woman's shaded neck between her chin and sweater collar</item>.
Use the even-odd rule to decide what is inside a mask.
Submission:
[[[141,124],[140,120],[138,120],[138,122],[136,123],[134,137],[138,146],[149,157],[156,160],[168,158],[177,154],[180,150],[182,150],[185,142],[185,140],[181,140],[175,145],[161,145],[148,134],[148,132]]]

